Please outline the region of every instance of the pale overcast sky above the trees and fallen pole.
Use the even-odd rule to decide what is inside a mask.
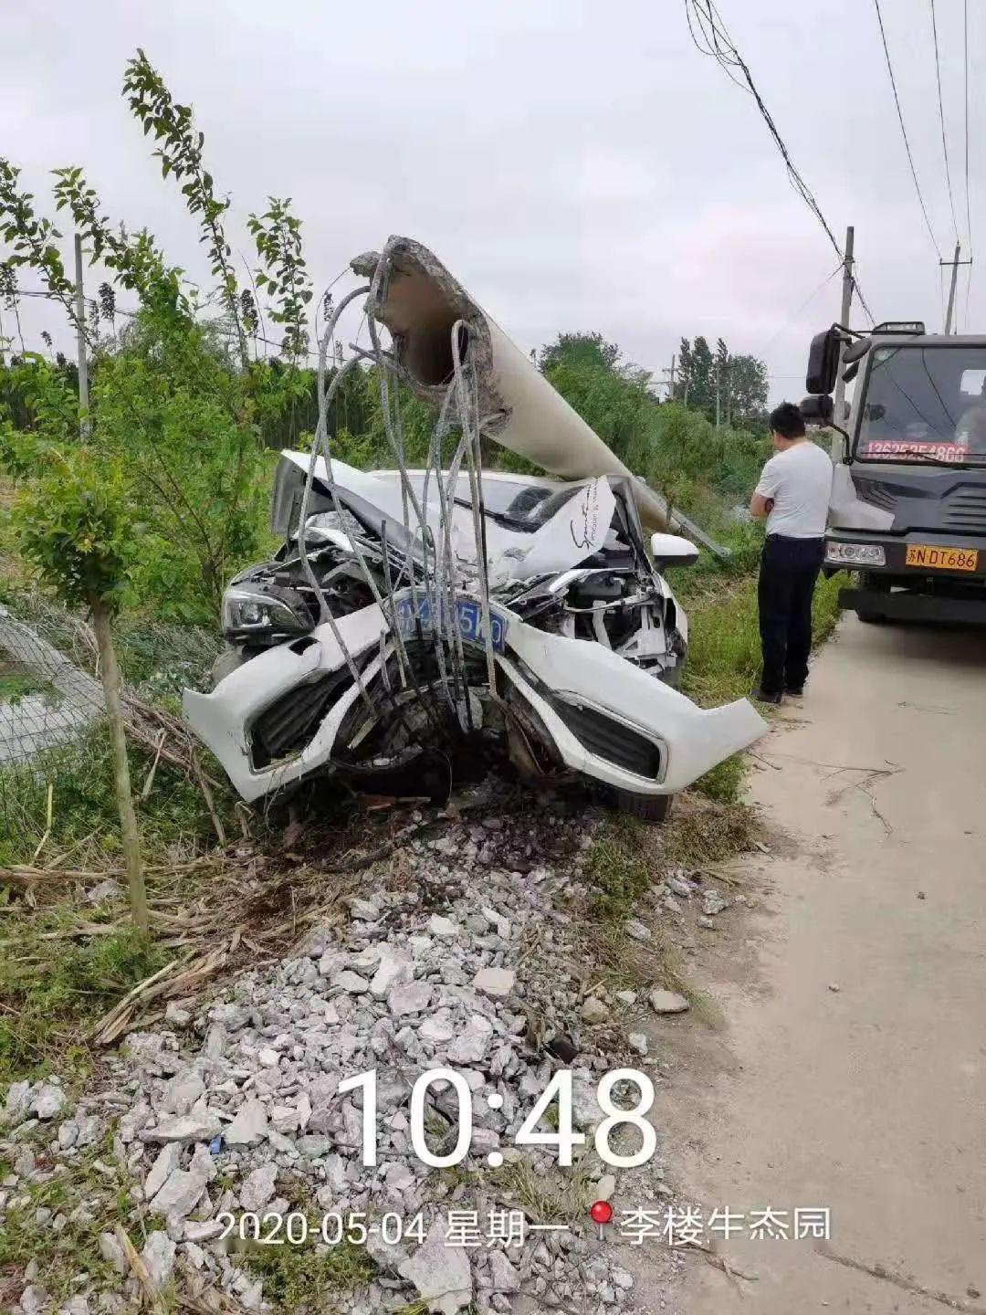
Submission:
[[[870,0],[719,8],[836,234],[856,225],[877,318],[940,329],[937,255]],[[928,3],[882,8],[918,176],[951,258]],[[979,8],[970,5],[973,70],[986,41]],[[936,13],[965,245],[962,0],[937,0]],[[137,46],[195,108],[217,187],[233,197],[234,246],[250,259],[247,213],[268,195],[291,196],[319,288],[356,252],[405,233],[525,350],[560,330],[599,330],[659,373],[682,335],[722,335],[734,352],[766,359],[773,398],[795,400],[811,333],[837,317],[837,277],[799,309],[837,256],[789,185],[752,97],[695,50],[684,0],[8,7],[0,154],[21,166],[38,208],[49,209],[47,171],[82,164],[110,216],[149,225],[174,263],[206,279],[177,188],[162,181],[120,97]],[[975,247],[986,92],[974,72],[970,95]],[[970,327],[986,305],[985,275],[973,267]],[[66,330],[47,322],[68,348]]]

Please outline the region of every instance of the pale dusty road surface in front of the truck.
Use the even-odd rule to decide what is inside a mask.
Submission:
[[[760,756],[789,847],[745,865],[752,970],[720,957],[727,1028],[682,1024],[663,1114],[706,1210],[828,1206],[832,1248],[901,1282],[739,1236],[757,1281],[695,1262],[676,1308],[986,1311],[986,635],[847,619]]]

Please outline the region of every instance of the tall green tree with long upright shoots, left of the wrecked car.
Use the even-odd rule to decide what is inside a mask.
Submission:
[[[256,333],[258,314],[238,295],[222,222],[229,201],[217,199],[204,137],[143,51],[128,64],[125,93],[145,133],[160,143],[155,154],[163,176],[181,184],[220,280],[223,310],[205,321],[195,292],[185,289],[181,271],[167,263],[153,235],[130,234],[112,221],[78,166],[55,170],[57,208],[71,214],[89,262],[110,276],[100,287],[108,322],[116,318],[117,288],[139,301],[137,317],[117,337],[105,343],[91,337],[89,442],[131,475],[142,538],[134,583],[142,596],[166,617],[208,623],[229,575],[258,555],[264,539],[270,463],[262,434],[288,416],[296,435],[296,412],[306,400],[314,402],[313,375],[298,368],[310,285],[300,225],[287,201],[272,200],[252,226],[270,314],[285,329],[283,359],[251,362],[246,335]],[[60,237],[51,220],[35,213],[16,167],[0,160],[7,267],[33,268],[75,325]],[[25,419],[22,408],[16,413],[16,398],[7,393],[0,389],[0,410],[17,426]]]

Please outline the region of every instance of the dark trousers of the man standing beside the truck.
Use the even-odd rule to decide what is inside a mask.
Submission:
[[[769,534],[760,556],[760,689],[780,694],[801,689],[811,652],[811,598],[824,558],[824,539],[789,539]]]

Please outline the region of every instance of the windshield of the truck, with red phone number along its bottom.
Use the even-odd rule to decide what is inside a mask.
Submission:
[[[986,347],[876,347],[856,456],[986,466]]]

